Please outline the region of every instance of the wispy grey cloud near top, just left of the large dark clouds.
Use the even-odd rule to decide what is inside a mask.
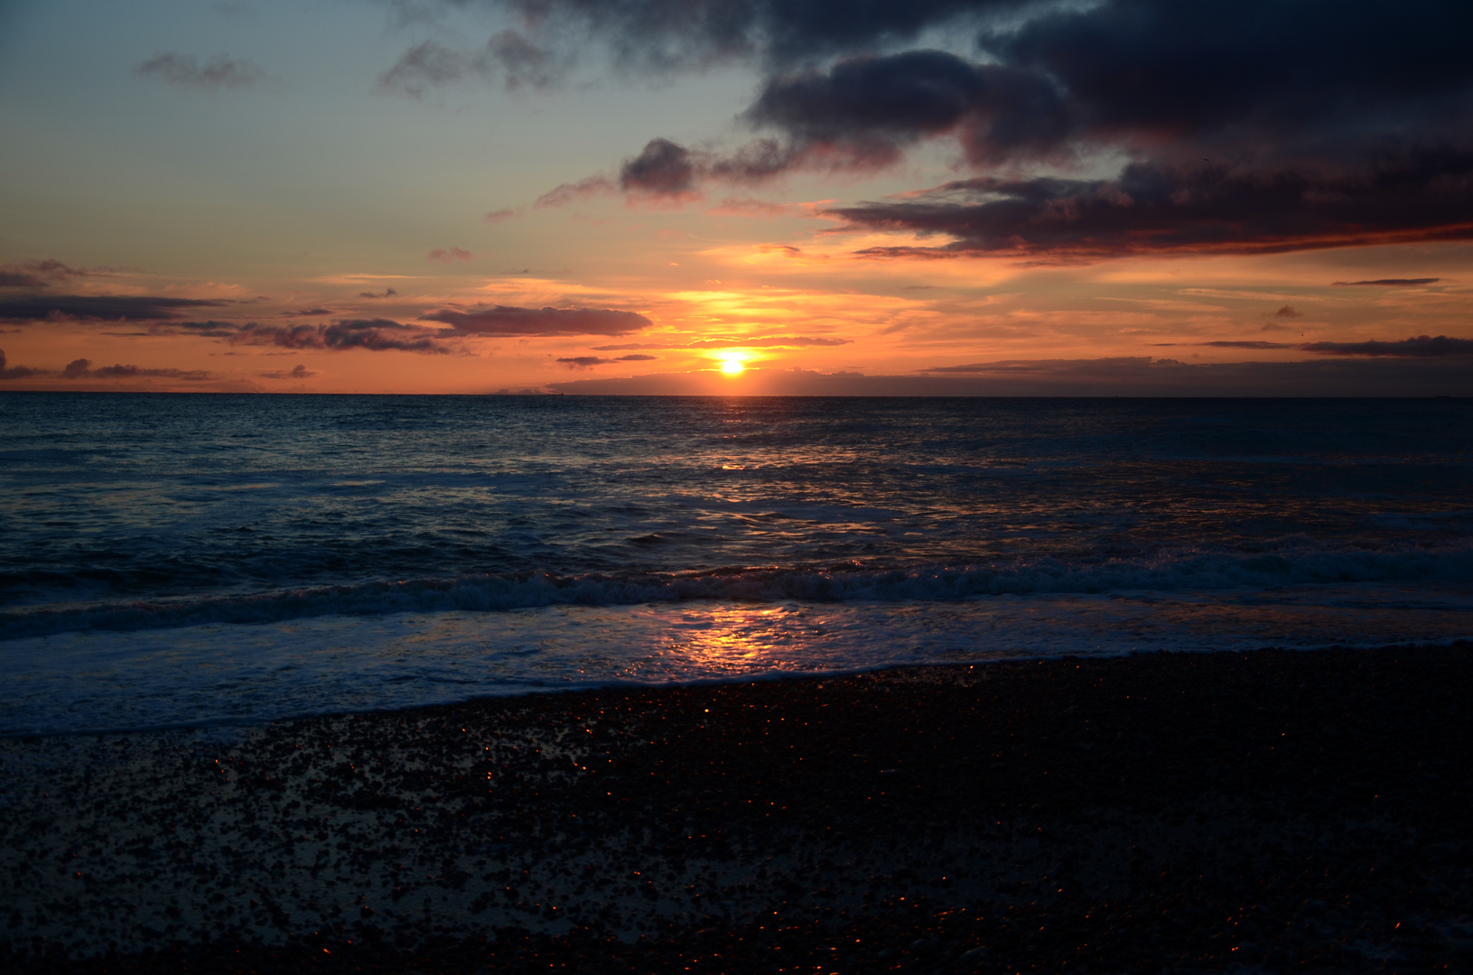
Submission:
[[[467,81],[499,82],[510,91],[521,87],[549,88],[558,82],[564,62],[564,56],[533,44],[517,31],[493,34],[476,52],[421,41],[404,52],[379,77],[379,88],[412,99],[423,99],[433,88]]]

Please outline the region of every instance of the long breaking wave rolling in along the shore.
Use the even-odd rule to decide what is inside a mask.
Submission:
[[[1002,595],[1221,591],[1317,583],[1473,580],[1473,542],[1368,549],[1323,543],[1273,552],[1190,549],[1147,558],[1059,558],[974,566],[759,567],[698,573],[545,571],[314,586],[239,596],[133,601],[0,613],[0,641],[85,630],[271,623],[320,616],[523,610],[546,605],[962,601]]]

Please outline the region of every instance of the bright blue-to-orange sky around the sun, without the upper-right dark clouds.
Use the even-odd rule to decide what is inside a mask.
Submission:
[[[414,60],[471,50],[492,13],[196,7],[130,19],[78,0],[0,21],[3,389],[576,392],[655,377],[600,389],[822,392],[838,389],[822,377],[863,374],[971,377],[985,393],[987,364],[1361,356],[1405,371],[1430,352],[1386,343],[1473,334],[1473,244],[1452,224],[1392,228],[1382,237],[1404,242],[1382,246],[1259,236],[955,256],[937,249],[957,231],[903,225],[906,208],[944,209],[960,191],[946,187],[988,174],[1108,187],[1149,146],[982,165],[956,147],[965,128],[863,158],[848,135],[790,133],[809,141],[784,149],[785,169],[736,178],[732,161],[766,144],[741,147],[742,119],[797,75],[763,80],[736,59],[651,80],[605,60],[577,84],[492,84],[461,77],[471,60],[439,74]],[[857,57],[800,81],[888,63]],[[1231,253],[1261,246],[1283,252]],[[451,324],[496,306],[521,324]],[[1473,392],[1469,370],[1439,368],[1429,392]]]

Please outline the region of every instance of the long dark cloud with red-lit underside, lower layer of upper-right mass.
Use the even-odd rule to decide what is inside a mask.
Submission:
[[[865,256],[1093,259],[1153,252],[1280,253],[1473,239],[1473,147],[1386,152],[1357,172],[1136,162],[1112,180],[957,180],[826,211],[848,228],[952,240]]]

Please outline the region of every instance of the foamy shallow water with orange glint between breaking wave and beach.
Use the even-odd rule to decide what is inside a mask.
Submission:
[[[71,632],[0,644],[0,733],[252,723],[610,683],[1150,650],[1473,636],[1469,586],[549,605]]]

